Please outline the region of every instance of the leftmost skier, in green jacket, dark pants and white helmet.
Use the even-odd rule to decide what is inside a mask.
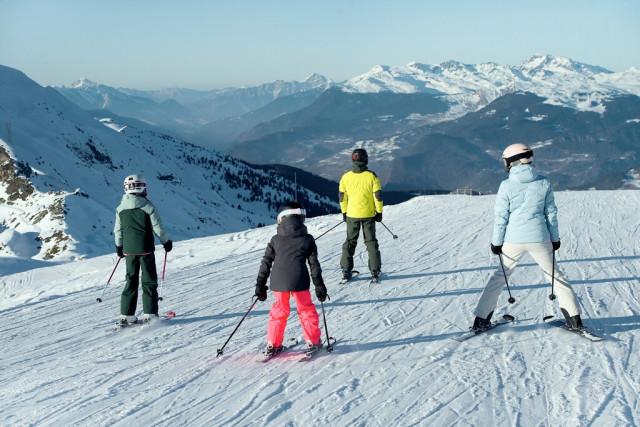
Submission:
[[[158,274],[153,234],[160,239],[164,250],[170,252],[173,243],[162,227],[160,215],[153,203],[147,200],[147,182],[140,175],[129,175],[124,180],[124,192],[116,208],[116,224],[113,234],[116,251],[126,257],[127,283],[120,297],[120,324],[136,323],[138,283],[142,269],[142,308],[144,321],[158,317]]]

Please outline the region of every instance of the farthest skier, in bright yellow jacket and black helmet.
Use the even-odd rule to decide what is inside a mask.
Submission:
[[[382,221],[382,187],[376,174],[367,169],[369,156],[363,148],[351,154],[351,170],[340,179],[338,199],[342,218],[347,223],[347,240],[342,245],[342,280],[351,278],[353,254],[356,251],[360,228],[369,253],[372,281],[377,281],[382,262],[376,239],[376,222]]]

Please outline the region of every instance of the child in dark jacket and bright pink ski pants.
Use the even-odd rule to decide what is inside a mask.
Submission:
[[[280,207],[277,233],[267,245],[258,272],[255,296],[260,301],[267,299],[267,278],[271,274],[271,290],[276,299],[269,313],[266,355],[282,351],[291,296],[296,301],[307,352],[322,348],[319,317],[309,293],[307,262],[319,301],[326,300],[327,288],[322,280],[315,239],[304,225],[305,217],[306,212],[299,203],[290,202]]]

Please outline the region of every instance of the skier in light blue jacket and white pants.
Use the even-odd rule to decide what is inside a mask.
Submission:
[[[502,160],[509,178],[502,181],[496,196],[491,251],[502,256],[507,278],[525,253],[538,263],[549,282],[553,271],[554,290],[567,326],[584,329],[571,285],[554,265],[552,255],[560,248],[560,233],[551,184],[545,176],[538,174],[532,164],[533,151],[526,144],[510,145],[504,150]],[[498,269],[485,286],[475,309],[473,330],[486,329],[490,325],[505,284],[504,274]]]

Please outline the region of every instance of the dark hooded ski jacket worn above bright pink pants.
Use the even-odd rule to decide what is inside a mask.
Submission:
[[[302,219],[284,217],[264,252],[257,284],[266,285],[271,275],[272,291],[306,291],[311,284],[307,261],[313,284],[324,284],[315,239],[307,233]]]

